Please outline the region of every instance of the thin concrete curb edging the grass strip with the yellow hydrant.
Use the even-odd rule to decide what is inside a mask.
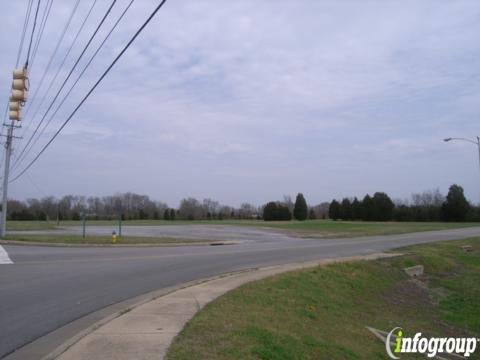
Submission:
[[[0,240],[0,245],[19,245],[19,246],[48,246],[48,247],[165,247],[165,246],[206,246],[206,245],[235,245],[236,241],[199,241],[199,242],[179,242],[179,243],[152,243],[152,244],[69,244],[69,243],[47,243],[21,240]]]

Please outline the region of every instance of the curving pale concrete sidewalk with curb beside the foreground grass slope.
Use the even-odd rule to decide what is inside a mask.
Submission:
[[[288,271],[398,253],[324,259],[228,273],[183,284],[140,301],[93,324],[42,360],[162,359],[184,325],[206,304],[245,283]]]

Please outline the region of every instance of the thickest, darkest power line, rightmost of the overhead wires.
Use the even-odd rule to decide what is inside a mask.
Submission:
[[[77,105],[77,107],[68,116],[68,118],[62,124],[62,126],[60,126],[60,128],[55,132],[55,134],[52,136],[52,138],[45,144],[45,146],[42,148],[42,150],[40,150],[40,152],[37,154],[37,156],[35,156],[35,158],[17,176],[15,176],[10,182],[13,182],[13,181],[17,180],[19,177],[21,177],[38,160],[38,158],[43,154],[43,152],[48,148],[48,146],[50,146],[50,144],[56,139],[58,134],[60,134],[60,132],[63,130],[63,128],[70,122],[70,120],[76,114],[78,109],[80,109],[80,107],[83,105],[83,103],[88,99],[88,97],[93,93],[93,91],[97,88],[97,86],[102,82],[102,80],[105,78],[105,76],[107,76],[107,74],[110,72],[110,70],[115,66],[117,61],[122,57],[122,55],[125,53],[125,51],[127,51],[127,49],[135,41],[135,39],[138,37],[138,35],[143,31],[143,29],[153,19],[153,17],[157,14],[157,12],[162,8],[162,6],[165,4],[166,1],[167,0],[162,0],[160,2],[160,4],[157,5],[157,7],[153,10],[153,12],[147,18],[147,20],[142,24],[142,26],[137,30],[137,32],[133,35],[133,37],[128,41],[127,45],[125,45],[125,47],[122,49],[122,51],[120,51],[120,53],[113,60],[113,62],[108,66],[108,68],[105,70],[105,72],[102,74],[102,76],[100,76],[100,78],[93,85],[93,87],[83,97],[82,101],[80,101],[80,103]]]

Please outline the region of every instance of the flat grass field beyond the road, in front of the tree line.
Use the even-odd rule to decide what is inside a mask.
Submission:
[[[116,226],[117,221],[87,221],[87,226]],[[364,221],[272,221],[263,220],[201,220],[201,221],[164,221],[164,220],[130,220],[123,226],[163,226],[163,225],[234,225],[257,228],[271,228],[290,232],[305,237],[352,237],[366,235],[402,234],[417,231],[454,229],[480,226],[480,223],[440,223],[440,222],[364,222]],[[60,227],[81,226],[81,221],[60,222]],[[9,221],[7,229],[12,230],[47,230],[56,229],[55,222]]]

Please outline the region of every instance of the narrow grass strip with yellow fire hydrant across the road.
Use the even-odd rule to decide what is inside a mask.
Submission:
[[[85,239],[81,235],[7,235],[5,240],[35,242],[44,244],[85,244],[85,245],[110,245],[111,236],[87,236]],[[171,237],[136,237],[122,236],[117,238],[116,244],[179,244],[179,243],[205,243],[212,242],[206,239],[180,239]]]

